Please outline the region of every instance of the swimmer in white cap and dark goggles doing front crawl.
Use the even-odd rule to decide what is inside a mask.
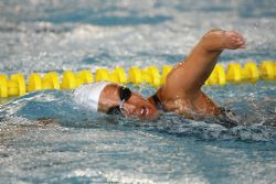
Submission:
[[[201,87],[221,53],[236,48],[245,48],[241,34],[212,30],[202,36],[183,62],[173,67],[166,84],[149,98],[118,84],[100,82],[78,87],[74,99],[91,110],[123,113],[128,118],[153,119],[159,111],[171,111],[191,119],[220,117],[225,110],[217,107]]]

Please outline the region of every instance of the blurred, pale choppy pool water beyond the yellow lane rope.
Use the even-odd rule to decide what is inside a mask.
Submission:
[[[222,61],[275,58],[276,25],[270,13],[275,4],[255,3],[151,1],[151,6],[120,7],[120,2],[3,1],[0,68],[4,73],[20,69],[29,74],[92,68],[92,65],[95,69],[103,65],[176,63],[204,32],[214,28],[241,31],[248,43],[246,51],[226,52]],[[28,67],[30,64],[32,68]]]

